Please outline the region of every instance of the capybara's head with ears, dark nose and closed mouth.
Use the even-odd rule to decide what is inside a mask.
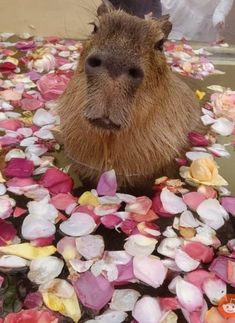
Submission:
[[[88,127],[122,131],[136,113],[147,116],[148,105],[141,114],[135,102],[143,101],[150,87],[154,91],[167,69],[163,43],[171,30],[168,18],[144,20],[108,6],[98,17],[75,74],[79,93],[73,93],[80,95],[78,113]]]

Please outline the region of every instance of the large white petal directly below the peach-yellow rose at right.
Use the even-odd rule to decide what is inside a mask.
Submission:
[[[228,220],[228,213],[216,199],[207,199],[197,208],[200,219],[211,228],[217,230],[224,225],[224,219]]]

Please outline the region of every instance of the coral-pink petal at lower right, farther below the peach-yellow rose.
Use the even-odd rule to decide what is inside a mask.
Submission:
[[[182,248],[190,257],[203,263],[209,263],[214,257],[213,248],[205,246],[200,242],[186,242]]]

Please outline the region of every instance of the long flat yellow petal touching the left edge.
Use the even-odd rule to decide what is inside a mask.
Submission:
[[[54,246],[33,247],[30,243],[20,243],[0,247],[0,252],[32,260],[38,257],[51,256],[56,252],[56,248]]]

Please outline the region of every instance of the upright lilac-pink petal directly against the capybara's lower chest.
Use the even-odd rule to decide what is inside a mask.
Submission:
[[[97,185],[99,195],[113,196],[117,191],[117,179],[114,170],[110,170],[101,175]]]

